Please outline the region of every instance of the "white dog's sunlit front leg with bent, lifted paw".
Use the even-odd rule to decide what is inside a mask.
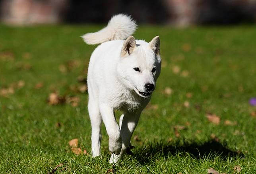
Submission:
[[[108,104],[99,104],[102,120],[109,135],[109,151],[118,155],[122,148],[122,137],[114,116],[114,108]]]

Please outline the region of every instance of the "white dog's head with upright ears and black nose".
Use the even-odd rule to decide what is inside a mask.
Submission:
[[[160,40],[156,36],[149,43],[133,36],[124,41],[117,65],[122,84],[140,97],[150,97],[161,70]]]

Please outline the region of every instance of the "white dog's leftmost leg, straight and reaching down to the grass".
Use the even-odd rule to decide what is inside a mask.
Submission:
[[[88,111],[91,120],[91,154],[93,157],[101,155],[101,114],[99,104],[89,97]]]

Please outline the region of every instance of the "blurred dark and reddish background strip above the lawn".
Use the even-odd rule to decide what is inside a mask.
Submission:
[[[0,0],[2,23],[102,23],[113,14],[175,26],[255,23],[256,0]]]

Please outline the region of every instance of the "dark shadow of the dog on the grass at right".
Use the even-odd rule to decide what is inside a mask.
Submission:
[[[225,145],[219,143],[216,140],[210,140],[208,142],[199,145],[197,143],[183,143],[179,145],[177,142],[176,145],[170,145],[164,142],[152,143],[141,149],[138,149],[134,156],[140,163],[146,164],[151,162],[156,155],[161,155],[165,158],[168,158],[169,155],[176,154],[186,154],[189,153],[195,159],[202,159],[207,157],[208,159],[220,156],[222,159],[227,159],[228,157],[244,157],[244,154],[237,151],[231,151]]]

